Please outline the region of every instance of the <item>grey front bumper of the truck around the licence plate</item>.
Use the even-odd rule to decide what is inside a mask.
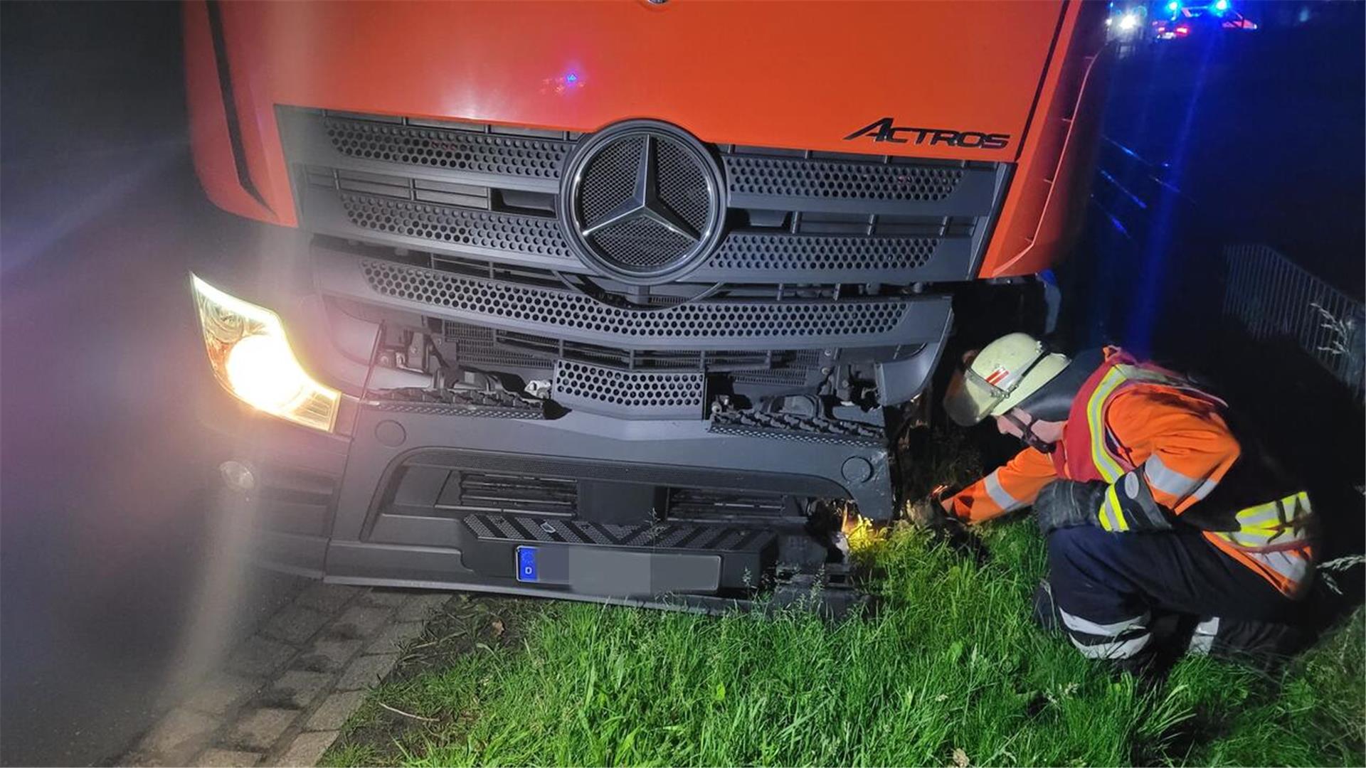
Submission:
[[[641,582],[613,592],[582,578],[519,581],[518,548],[537,547],[635,552],[657,560],[647,570],[664,571],[679,556],[705,558],[716,563],[714,584],[668,581],[663,571],[645,584],[725,594],[761,586],[792,559],[785,548],[811,540],[803,511],[785,500],[851,499],[891,511],[888,452],[866,436],[817,425],[798,437],[762,426],[716,433],[703,421],[534,415],[366,402],[350,439],[250,417],[238,452],[225,458],[258,478],[246,499],[258,558],[351,584],[658,597]],[[490,477],[504,486],[486,491]]]

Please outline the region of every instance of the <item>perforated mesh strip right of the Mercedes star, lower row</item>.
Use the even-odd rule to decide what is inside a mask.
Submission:
[[[938,238],[856,238],[732,232],[708,262],[713,269],[915,269]]]

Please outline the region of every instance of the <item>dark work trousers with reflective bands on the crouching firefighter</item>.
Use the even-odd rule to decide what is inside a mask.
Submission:
[[[1197,653],[1276,660],[1311,641],[1305,607],[1220,552],[1193,527],[1111,533],[1064,527],[1048,537],[1048,585],[1072,644],[1093,659],[1141,666],[1172,637]],[[1171,635],[1172,633],[1158,633]]]

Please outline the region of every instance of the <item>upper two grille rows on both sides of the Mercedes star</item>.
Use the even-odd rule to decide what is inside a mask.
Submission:
[[[317,232],[594,272],[574,257],[555,213],[575,134],[298,108],[280,109],[280,127],[305,223]],[[979,161],[712,150],[729,208],[716,253],[687,275],[701,283],[968,279],[1009,171]],[[661,194],[676,186],[667,169]]]

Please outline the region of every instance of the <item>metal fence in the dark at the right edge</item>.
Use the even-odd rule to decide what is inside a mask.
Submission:
[[[1366,394],[1366,310],[1274,249],[1224,249],[1228,280],[1224,316],[1254,339],[1287,339],[1313,357],[1361,400]]]

